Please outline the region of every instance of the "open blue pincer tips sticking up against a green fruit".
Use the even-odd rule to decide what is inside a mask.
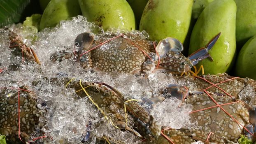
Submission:
[[[191,60],[193,65],[198,64],[198,62],[200,60],[203,60],[203,59],[208,58],[208,57],[212,60],[212,58],[209,55],[208,51],[210,49],[212,49],[212,46],[214,46],[216,41],[219,39],[220,35],[221,35],[221,33],[219,33],[218,35],[214,36],[212,38],[212,40],[210,40],[210,42],[205,47],[202,47],[202,48],[198,49],[197,51],[193,52],[191,55],[189,55],[189,59]]]

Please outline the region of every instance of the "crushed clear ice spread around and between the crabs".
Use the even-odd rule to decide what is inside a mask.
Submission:
[[[104,72],[85,71],[75,60],[64,60],[62,63],[53,63],[49,58],[52,53],[60,50],[72,51],[74,39],[85,31],[95,31],[95,26],[88,23],[82,16],[72,21],[63,21],[56,28],[48,28],[40,33],[32,34],[29,30],[22,30],[22,26],[12,25],[9,30],[20,30],[23,42],[33,48],[42,65],[34,62],[21,63],[21,56],[12,56],[8,40],[8,30],[0,29],[0,87],[23,85],[30,86],[37,94],[37,106],[44,112],[40,121],[44,123],[42,130],[46,136],[51,136],[54,143],[61,139],[71,143],[79,143],[86,132],[90,132],[90,142],[95,137],[114,137],[126,143],[138,143],[138,139],[130,132],[114,129],[104,120],[100,112],[88,98],[76,99],[74,90],[67,90],[63,85],[56,86],[42,80],[37,86],[31,83],[44,77],[67,75],[83,81],[105,82],[134,99],[159,96],[159,90],[170,83],[175,83],[171,74],[153,73],[148,79],[138,79],[130,74],[106,74]],[[138,33],[138,32],[133,32]],[[143,34],[143,37],[146,37]],[[17,69],[16,66],[18,66]],[[151,109],[151,114],[165,127],[181,128],[190,124],[189,111],[191,105],[182,105],[177,99],[166,99]],[[100,123],[100,124],[97,124]],[[97,127],[95,126],[97,124]]]

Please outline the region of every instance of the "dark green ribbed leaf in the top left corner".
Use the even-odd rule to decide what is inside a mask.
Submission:
[[[0,0],[0,27],[18,23],[31,0]]]

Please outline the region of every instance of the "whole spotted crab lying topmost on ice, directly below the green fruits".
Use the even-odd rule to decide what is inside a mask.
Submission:
[[[155,47],[155,42],[134,34],[102,34],[94,40],[92,33],[81,33],[75,39],[79,63],[83,68],[94,68],[104,72],[125,72],[144,74],[151,72],[187,72],[200,60],[209,56],[208,51],[219,38],[220,33],[203,48],[192,53],[189,58],[182,55],[183,45],[175,38],[165,38]],[[51,56],[53,61],[61,61],[72,56],[58,51]]]

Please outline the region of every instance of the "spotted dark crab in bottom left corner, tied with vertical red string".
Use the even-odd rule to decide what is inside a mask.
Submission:
[[[0,134],[6,135],[6,140],[14,144],[20,143],[21,140],[28,141],[35,131],[35,125],[39,123],[40,113],[36,107],[35,93],[29,91],[27,86],[2,88],[0,89],[0,109]]]

